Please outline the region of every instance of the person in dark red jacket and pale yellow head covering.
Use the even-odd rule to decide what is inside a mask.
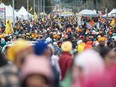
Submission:
[[[62,80],[65,78],[67,71],[72,67],[73,56],[70,54],[72,43],[69,41],[63,42],[61,45],[62,53],[59,59]]]

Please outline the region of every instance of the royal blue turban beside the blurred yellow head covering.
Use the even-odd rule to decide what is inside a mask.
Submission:
[[[34,52],[36,55],[42,55],[47,49],[47,43],[45,43],[44,41],[38,41],[34,45]]]

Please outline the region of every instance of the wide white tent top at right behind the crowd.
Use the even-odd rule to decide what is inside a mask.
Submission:
[[[79,15],[84,16],[84,17],[98,17],[99,16],[95,10],[89,10],[89,9],[84,9],[80,11]]]

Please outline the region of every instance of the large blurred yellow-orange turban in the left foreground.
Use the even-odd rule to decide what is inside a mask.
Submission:
[[[23,50],[26,50],[28,49],[29,47],[31,47],[29,45],[29,43],[26,41],[26,40],[23,40],[23,39],[19,39],[17,41],[15,41],[13,43],[13,46],[10,46],[8,48],[8,51],[7,51],[7,57],[10,61],[14,61],[15,60],[15,56],[17,53],[23,51]]]

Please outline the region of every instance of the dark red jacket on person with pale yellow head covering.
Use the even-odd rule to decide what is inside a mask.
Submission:
[[[65,78],[67,71],[72,67],[73,58],[69,52],[63,52],[60,55],[59,66],[61,69],[62,80]]]

